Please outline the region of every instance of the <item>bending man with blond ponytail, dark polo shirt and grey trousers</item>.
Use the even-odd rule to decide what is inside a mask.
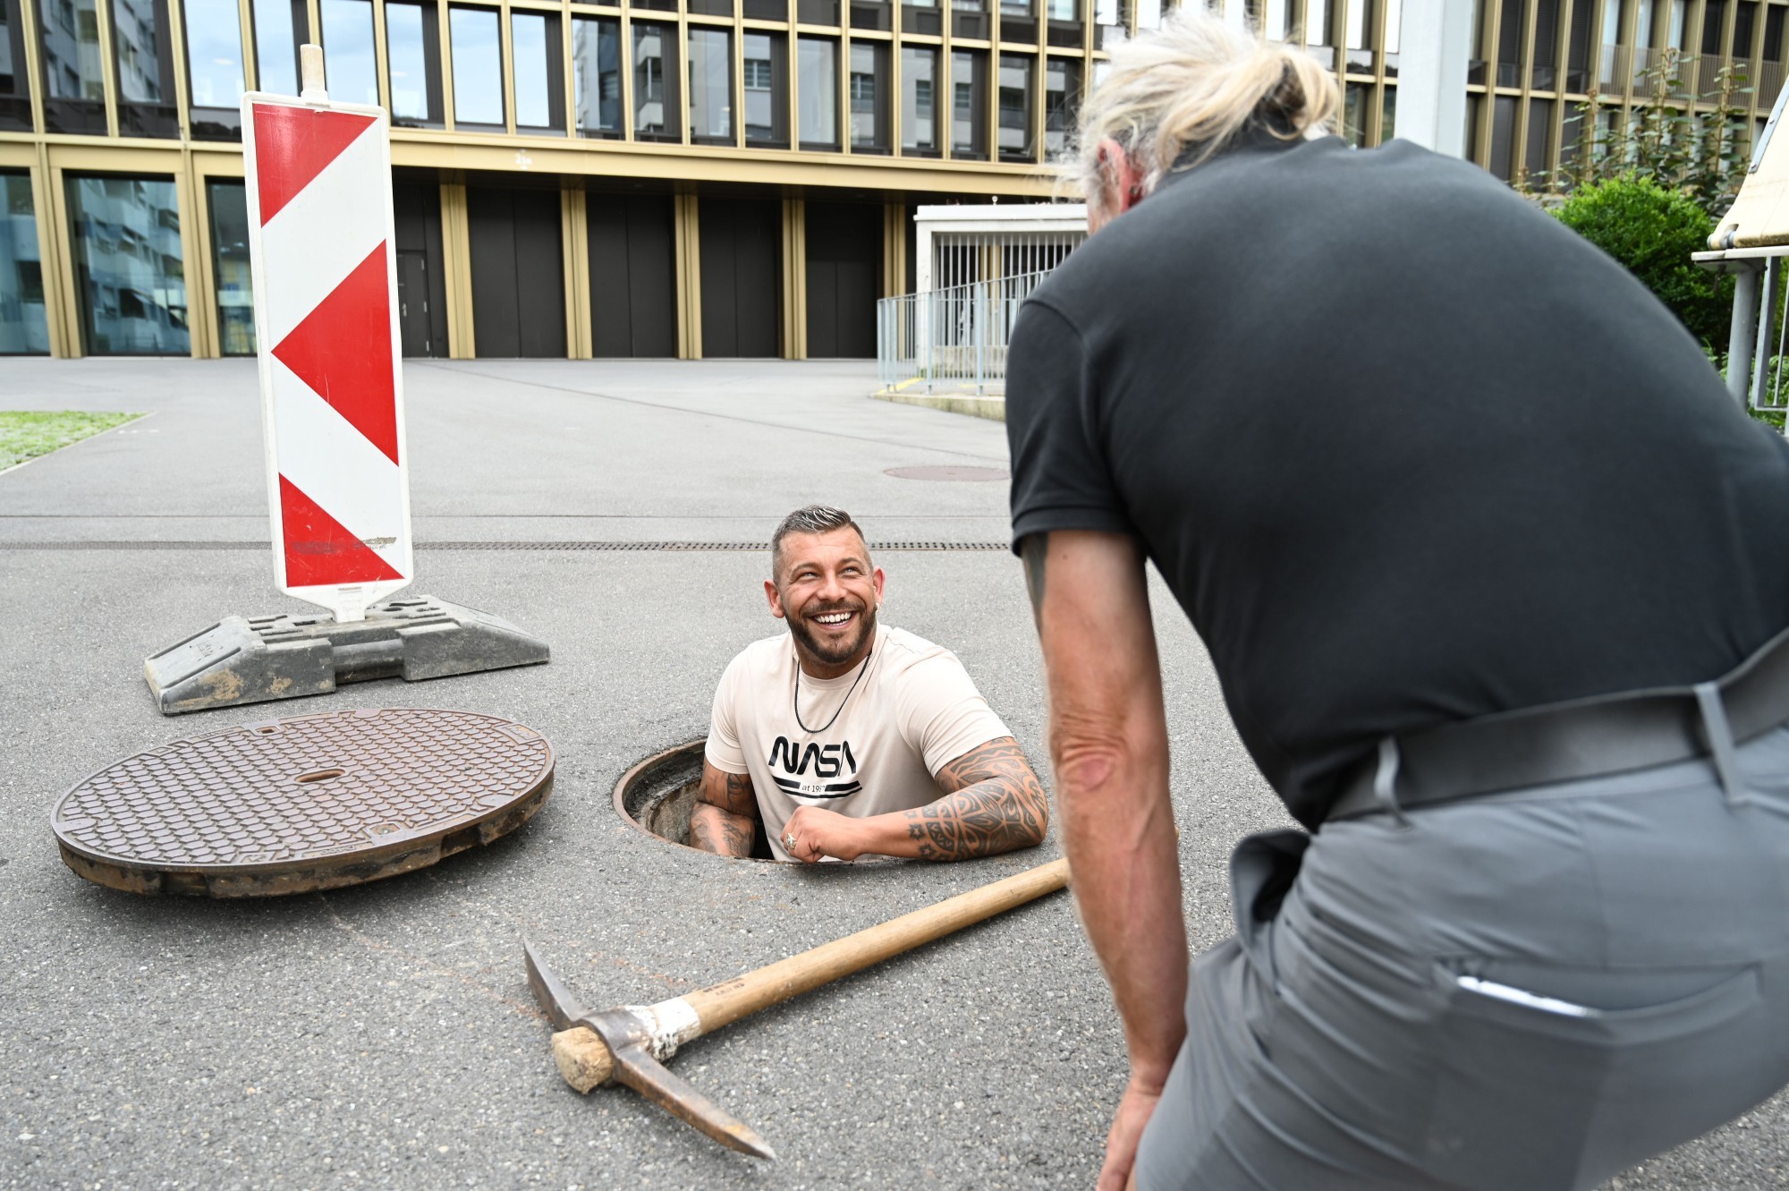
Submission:
[[[1789,451],[1621,266],[1336,107],[1209,16],[1113,50],[1095,234],[1013,331],[1100,1187],[1592,1187],[1789,1082]],[[1190,969],[1145,560],[1304,826]]]

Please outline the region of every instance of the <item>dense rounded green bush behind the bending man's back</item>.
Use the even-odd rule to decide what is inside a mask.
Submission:
[[[1580,186],[1553,215],[1621,261],[1707,351],[1726,351],[1734,279],[1689,259],[1707,250],[1714,231],[1714,216],[1694,198],[1628,173]]]

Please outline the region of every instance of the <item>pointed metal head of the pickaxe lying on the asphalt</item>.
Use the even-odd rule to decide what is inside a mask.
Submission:
[[[531,944],[522,944],[522,955],[528,959],[528,987],[535,991],[535,1000],[546,1010],[553,1028],[587,1026],[608,1048],[608,1075],[596,1082],[626,1084],[728,1150],[762,1159],[776,1157],[757,1130],[666,1069],[662,1060],[676,1053],[680,1043],[687,1043],[701,1032],[694,1012],[687,1012],[687,1019],[682,1016],[673,1019],[673,1014],[667,1012],[667,1007],[682,1005],[682,1001],[649,1007],[617,1005],[596,1014],[585,1012],[571,989],[540,962]]]

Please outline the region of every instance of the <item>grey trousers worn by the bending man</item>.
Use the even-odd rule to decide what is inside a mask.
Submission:
[[[1737,758],[1245,839],[1140,1191],[1594,1187],[1789,1084],[1789,730]]]

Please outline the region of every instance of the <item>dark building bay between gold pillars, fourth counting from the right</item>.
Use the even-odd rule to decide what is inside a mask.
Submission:
[[[565,358],[556,190],[469,186],[472,338],[479,356]]]

